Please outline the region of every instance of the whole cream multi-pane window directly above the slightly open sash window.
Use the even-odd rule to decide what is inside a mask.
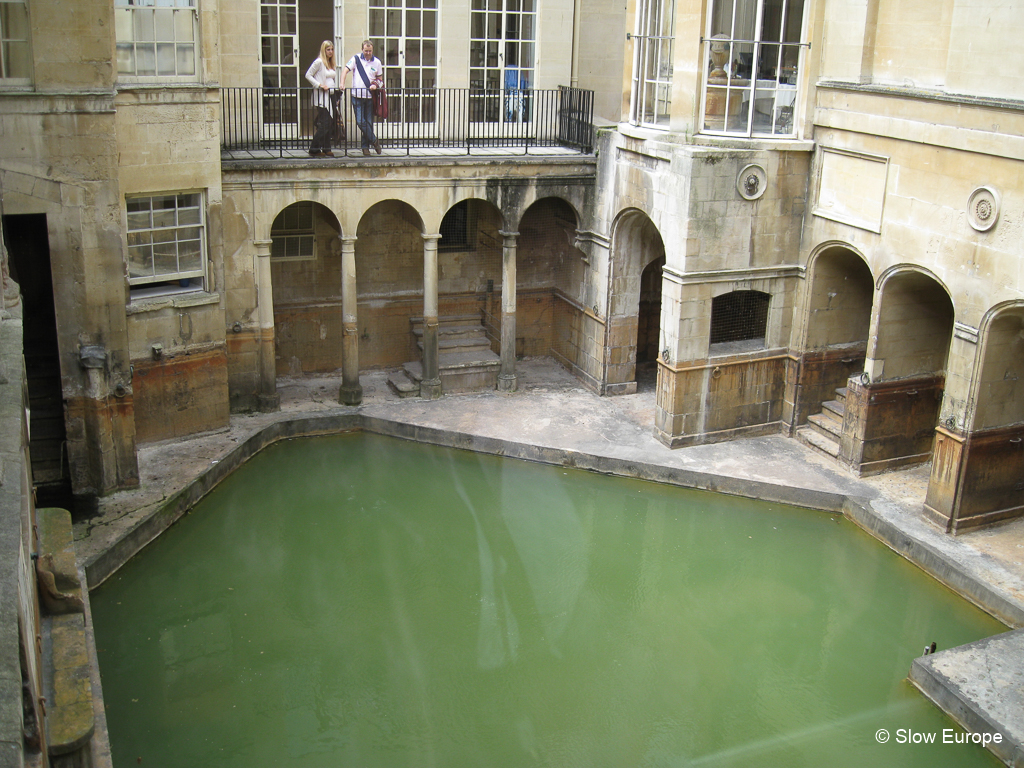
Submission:
[[[195,77],[196,0],[115,0],[118,75]]]

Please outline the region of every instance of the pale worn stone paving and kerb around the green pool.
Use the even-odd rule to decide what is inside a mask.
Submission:
[[[141,445],[140,486],[100,500],[97,513],[75,525],[76,549],[90,586],[176,519],[166,514],[176,495],[198,478],[222,474],[243,461],[255,450],[254,436],[268,430],[322,431],[356,418],[394,434],[457,435],[446,444],[842,510],[1008,625],[1024,627],[1024,519],[946,535],[923,514],[928,465],[858,478],[782,435],[670,450],[653,435],[652,382],[641,380],[637,394],[600,397],[550,358],[521,360],[516,373],[513,393],[438,400],[399,399],[388,389],[388,372],[365,373],[364,401],[355,408],[338,404],[340,372],[282,378],[278,413],[237,415],[223,430]],[[179,506],[190,503],[178,500]],[[934,658],[941,659],[942,652]],[[1013,664],[1019,662],[1018,656]],[[983,670],[970,674],[981,687],[999,684],[979,678]],[[1024,731],[1024,713],[1018,720],[1015,733]]]

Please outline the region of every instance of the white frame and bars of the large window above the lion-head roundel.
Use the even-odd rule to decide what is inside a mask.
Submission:
[[[780,4],[778,28],[775,32],[769,30],[766,33],[765,9],[775,2]],[[715,19],[720,8],[724,10],[727,4],[731,5],[729,31],[717,32]],[[791,10],[797,4],[800,6],[799,18],[796,19],[796,34],[793,34]],[[736,30],[737,10],[742,7],[749,12],[752,6],[753,33],[743,37]],[[807,0],[709,0],[707,27],[705,36],[700,38],[702,76],[698,133],[733,138],[797,137],[797,112],[802,96],[800,77],[804,71],[806,49],[810,47],[805,39],[808,7]],[[750,46],[751,50],[739,50],[745,46]],[[774,61],[771,58],[773,51]],[[741,62],[740,58],[748,53],[750,62]],[[714,61],[716,54],[720,59],[718,62]],[[738,72],[740,67],[750,69],[745,78],[740,77],[744,74]],[[774,74],[762,77],[760,73],[765,67],[772,68]],[[770,103],[769,112],[763,113],[764,108],[758,106],[758,103],[766,101]],[[737,120],[730,127],[732,118],[742,116],[744,109],[743,125],[738,125]],[[759,125],[761,121],[755,119],[759,113],[768,116],[766,129]]]

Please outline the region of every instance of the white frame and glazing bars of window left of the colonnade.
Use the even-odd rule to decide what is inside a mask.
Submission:
[[[173,198],[175,200],[174,211],[174,223],[173,225],[167,224],[155,224],[155,212],[162,211],[165,213],[170,209],[167,207],[157,208],[154,205],[154,201]],[[194,204],[191,205],[181,205],[183,199],[193,198]],[[142,201],[148,201],[148,225],[147,226],[132,226],[132,218],[138,217],[142,210],[131,210],[133,203],[140,203]],[[191,211],[195,210],[198,213],[198,221],[184,221],[181,222],[180,212],[181,211]],[[206,211],[206,194],[203,190],[187,190],[187,191],[161,191],[161,193],[150,193],[146,195],[126,195],[125,196],[125,273],[128,281],[129,291],[131,298],[145,298],[150,296],[167,296],[171,294],[180,293],[198,293],[206,292],[207,286],[209,285],[209,248],[207,244],[208,229],[207,229],[207,211]],[[180,238],[179,234],[185,233],[187,229],[198,229],[196,237],[191,238]],[[174,234],[174,240],[169,240],[168,236],[170,233]],[[153,237],[154,233],[160,233],[161,240],[156,241]],[[147,236],[138,237],[133,236]],[[133,242],[138,240],[141,242]],[[148,242],[145,242],[148,241]],[[150,260],[153,264],[153,272],[151,274],[136,274],[132,276],[132,251],[133,249],[144,249],[145,246],[154,245],[168,245],[170,243],[175,244],[175,260],[178,262],[177,265],[180,267],[181,253],[177,248],[178,244],[181,243],[198,243],[199,244],[199,266],[194,268],[178,268],[173,271],[157,271],[157,259],[158,256],[155,251],[151,251]],[[136,263],[137,260],[136,260]],[[184,281],[188,281],[187,284]]]

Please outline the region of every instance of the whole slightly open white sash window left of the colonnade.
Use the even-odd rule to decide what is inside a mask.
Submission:
[[[203,290],[203,196],[128,198],[128,283],[132,296]]]

